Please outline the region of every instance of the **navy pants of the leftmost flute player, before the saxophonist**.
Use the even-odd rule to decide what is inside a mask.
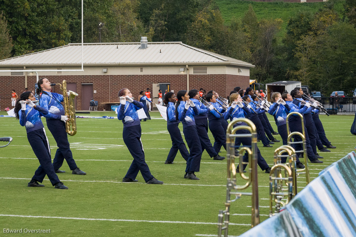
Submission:
[[[37,168],[32,179],[42,183],[47,174],[49,181],[51,181],[51,184],[54,186],[59,182],[59,179],[53,169],[51,151],[49,149],[45,128],[27,133],[27,139],[40,162],[40,166]]]

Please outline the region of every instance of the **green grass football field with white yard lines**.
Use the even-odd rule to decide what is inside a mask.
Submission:
[[[4,114],[0,112],[0,115]],[[115,116],[114,112],[92,112],[91,115]],[[158,118],[159,113],[152,112],[151,116]],[[268,117],[276,128],[273,118]],[[355,136],[350,133],[354,116],[321,115],[320,118],[329,140],[337,148],[320,153],[324,156],[323,164],[310,164],[313,178],[355,147]],[[42,121],[45,124],[45,120]],[[121,183],[132,161],[122,140],[121,121],[78,118],[78,133],[69,137],[69,142],[78,167],[87,175],[72,175],[64,162],[61,169],[66,173],[58,176],[68,190],[54,189],[47,177],[43,181],[45,187],[27,187],[39,162],[27,141],[25,128],[15,118],[0,117],[0,124],[0,137],[14,138],[9,146],[0,148],[1,236],[25,235],[3,233],[4,228],[50,229],[55,236],[187,237],[217,234],[218,212],[224,209],[226,198],[226,161],[215,161],[204,152],[197,173],[200,180],[183,179],[185,164],[179,153],[174,164],[164,164],[171,147],[166,121],[153,119],[141,123],[146,162],[151,173],[164,181],[164,185],[147,185],[140,173],[138,183]],[[179,126],[182,131],[182,125]],[[54,158],[56,143],[47,127],[46,131]],[[209,136],[213,139],[211,133]],[[277,135],[276,138],[281,137]],[[281,145],[276,143],[273,148],[264,148],[258,143],[268,164],[273,163],[273,151]],[[225,150],[220,154],[225,156]],[[269,194],[268,175],[261,169],[258,170],[258,185],[262,222],[269,213],[266,208]],[[305,178],[298,178],[298,185],[301,190]],[[250,196],[243,196],[231,205],[230,220],[238,225],[229,227],[229,235],[240,235],[250,228],[250,205]]]

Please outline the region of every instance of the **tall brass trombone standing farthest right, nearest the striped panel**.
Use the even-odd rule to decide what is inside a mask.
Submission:
[[[296,114],[300,117],[300,121],[302,122],[302,133],[300,132],[290,132],[289,131],[289,117],[293,114]],[[299,174],[305,174],[305,178],[307,180],[307,185],[310,183],[310,174],[309,174],[309,167],[308,167],[308,156],[307,156],[307,140],[305,139],[305,130],[304,130],[304,118],[303,118],[303,115],[298,113],[298,112],[290,112],[288,115],[287,115],[287,119],[286,119],[286,122],[287,122],[287,134],[288,134],[288,138],[287,138],[287,143],[288,145],[290,146],[291,144],[302,144],[302,148],[303,150],[300,150],[300,151],[295,151],[295,153],[298,153],[298,152],[303,152],[304,154],[304,160],[305,160],[305,168],[303,169],[296,169],[296,174],[299,175]],[[292,136],[299,136],[300,138],[302,138],[302,141],[299,141],[299,142],[295,142],[295,141],[291,141],[292,139]]]

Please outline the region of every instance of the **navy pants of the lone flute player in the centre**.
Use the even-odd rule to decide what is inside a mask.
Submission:
[[[138,171],[141,172],[142,177],[146,182],[154,178],[150,172],[150,168],[148,168],[148,165],[145,162],[145,152],[143,151],[141,142],[141,125],[124,127],[124,130],[122,130],[122,138],[133,157],[133,161],[129,170],[127,170],[125,178],[136,179]]]

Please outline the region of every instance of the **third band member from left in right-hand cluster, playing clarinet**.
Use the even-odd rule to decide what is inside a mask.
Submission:
[[[197,107],[199,114],[194,115],[195,126],[197,127],[201,149],[208,152],[209,156],[214,160],[223,160],[225,157],[219,156],[219,154],[215,151],[214,147],[211,146],[211,142],[208,136],[208,113],[210,110],[214,109],[213,105],[206,107],[203,103],[200,102],[200,95],[198,90],[190,90],[189,93],[190,100],[193,101],[195,106]]]

